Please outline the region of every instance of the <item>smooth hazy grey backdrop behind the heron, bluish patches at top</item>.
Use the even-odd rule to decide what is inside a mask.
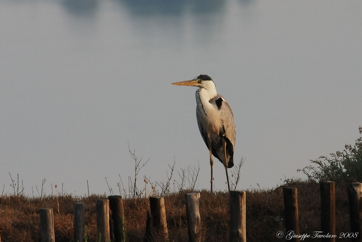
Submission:
[[[108,194],[105,177],[116,191],[134,172],[127,143],[150,157],[139,185],[199,161],[209,189],[196,88],[171,85],[199,74],[233,109],[239,189],[304,177],[359,137],[361,12],[359,0],[0,1],[1,190],[10,172],[26,194],[42,178],[47,194],[83,195],[87,180]],[[216,189],[224,176],[215,162]]]

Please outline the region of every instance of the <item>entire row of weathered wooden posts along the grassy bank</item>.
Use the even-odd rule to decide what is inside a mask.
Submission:
[[[323,234],[336,234],[335,183],[320,182],[321,194],[321,231]],[[350,183],[348,186],[351,232],[357,233],[351,241],[362,241],[362,183]],[[186,219],[190,242],[200,242],[201,216],[199,212],[200,193],[185,195]],[[285,208],[285,231],[299,234],[298,194],[296,188],[283,187]],[[121,196],[109,196],[109,199],[97,200],[97,230],[102,242],[125,241],[125,212]],[[163,197],[150,197],[150,212],[147,212],[145,242],[152,241],[152,234],[157,234],[168,241],[166,211]],[[55,242],[53,212],[51,208],[41,208],[40,232],[42,242]],[[230,241],[246,241],[245,191],[230,191]],[[285,237],[285,235],[284,235]],[[300,238],[289,238],[300,241]],[[321,241],[333,242],[336,238],[322,238]],[[84,241],[84,203],[74,206],[74,241]],[[1,242],[1,239],[0,239]]]

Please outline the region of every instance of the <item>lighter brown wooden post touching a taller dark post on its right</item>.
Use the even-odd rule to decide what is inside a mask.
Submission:
[[[109,200],[100,199],[97,200],[97,229],[98,233],[101,233],[101,241],[109,242]]]

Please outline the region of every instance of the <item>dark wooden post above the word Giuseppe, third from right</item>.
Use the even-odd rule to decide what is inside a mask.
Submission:
[[[288,235],[299,235],[298,191],[296,188],[283,187],[285,232]],[[288,238],[290,241],[300,241],[299,237]]]

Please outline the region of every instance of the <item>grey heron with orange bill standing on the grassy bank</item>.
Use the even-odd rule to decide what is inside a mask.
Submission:
[[[179,86],[196,86],[196,118],[203,141],[210,152],[211,191],[212,167],[214,155],[223,163],[226,172],[227,186],[230,191],[227,168],[234,165],[236,128],[234,116],[227,101],[216,92],[214,81],[208,75],[199,75],[189,81],[172,83]]]

